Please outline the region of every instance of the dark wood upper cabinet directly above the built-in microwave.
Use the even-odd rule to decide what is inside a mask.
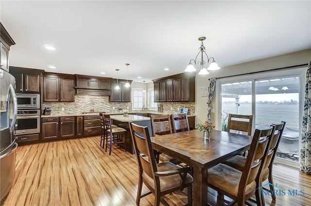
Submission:
[[[10,67],[15,77],[16,93],[41,93],[42,69]]]

